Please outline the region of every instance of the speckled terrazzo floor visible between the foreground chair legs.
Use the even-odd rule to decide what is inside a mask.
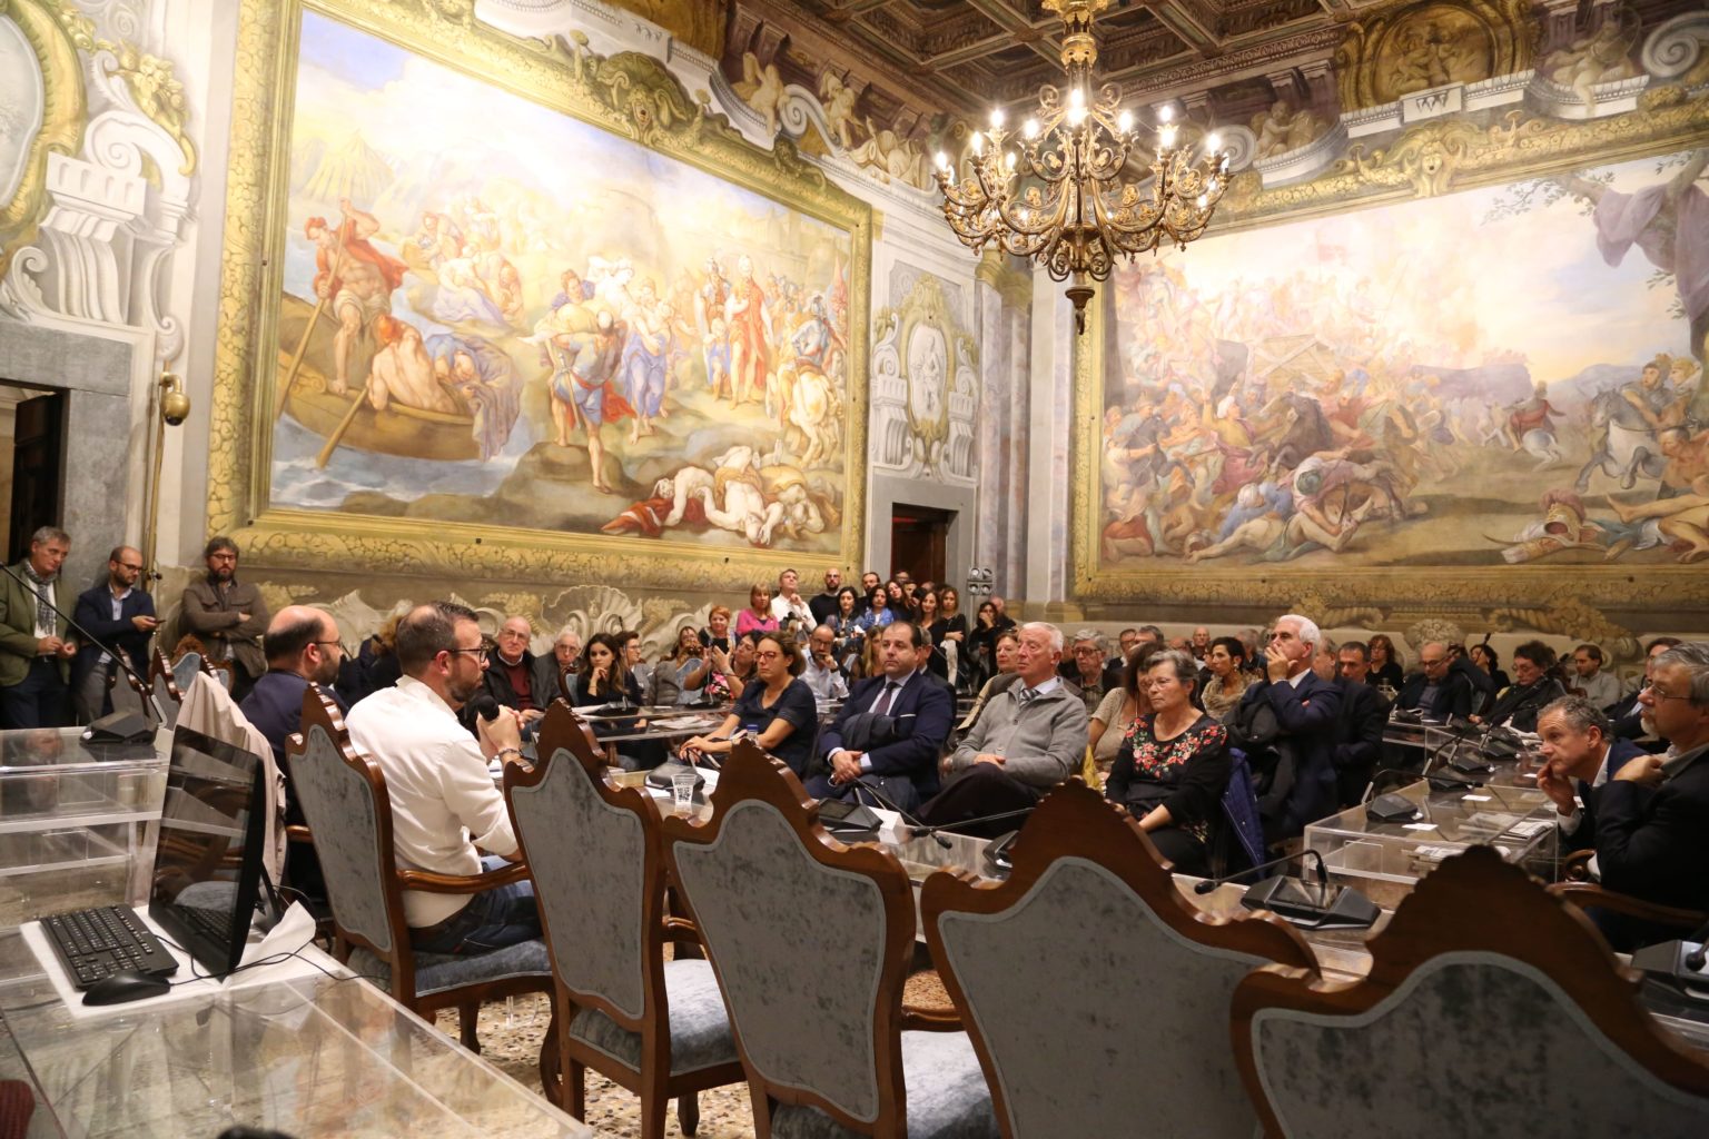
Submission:
[[[945,1008],[948,996],[935,972],[918,972],[907,978],[904,1001],[916,1008]],[[540,1042],[552,1019],[543,994],[497,1001],[480,1009],[480,1054],[525,1088],[540,1091]],[[444,1011],[439,1030],[456,1037],[456,1013]],[[612,1081],[588,1072],[588,1125],[600,1136],[636,1139],[641,1136],[641,1101]],[[667,1136],[682,1136],[677,1108],[667,1112]],[[701,1093],[697,1139],[747,1139],[754,1134],[754,1107],[747,1084],[730,1084]]]

